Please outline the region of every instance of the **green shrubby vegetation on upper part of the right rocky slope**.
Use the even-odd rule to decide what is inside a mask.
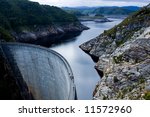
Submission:
[[[116,33],[120,32],[121,38],[115,40],[116,46],[119,47],[127,40],[131,39],[136,31],[148,25],[148,19],[150,19],[150,8],[144,7],[127,17],[117,26],[104,31],[103,34],[111,37],[112,39],[116,39]]]

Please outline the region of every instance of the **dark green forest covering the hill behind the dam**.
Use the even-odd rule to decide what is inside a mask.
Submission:
[[[12,40],[10,30],[37,25],[66,25],[77,18],[60,8],[28,0],[0,0],[0,38]]]

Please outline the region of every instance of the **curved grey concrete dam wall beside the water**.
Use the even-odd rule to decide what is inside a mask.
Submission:
[[[24,99],[76,99],[72,70],[60,54],[21,43],[1,43],[1,48]]]

